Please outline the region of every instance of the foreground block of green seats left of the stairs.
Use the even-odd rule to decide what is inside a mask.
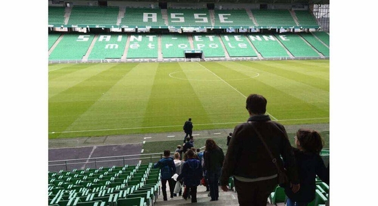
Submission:
[[[156,202],[160,193],[160,170],[153,169],[152,165],[152,163],[149,163],[145,165],[125,165],[123,167],[112,166],[111,168],[48,172],[49,179],[56,179],[53,181],[53,183],[56,182],[56,185],[49,183],[48,203],[49,205],[120,205],[123,204],[123,199],[142,197],[143,201],[140,201],[142,205],[152,205]],[[92,173],[84,175],[88,172]],[[78,178],[72,181],[71,176],[73,173],[81,175],[81,179]],[[127,181],[126,184],[116,183],[116,177],[119,179],[116,174],[124,173],[128,173],[126,180],[133,177],[141,177],[153,180],[153,182],[147,184],[145,181],[140,182],[139,180],[138,183],[133,183],[133,185],[127,185]],[[97,180],[94,184],[90,182],[85,184],[85,180],[89,179],[90,177],[88,176],[92,176],[91,174],[101,174],[103,177],[110,174],[113,179],[102,179]],[[72,182],[74,184],[71,184]],[[71,187],[65,187],[70,184]]]

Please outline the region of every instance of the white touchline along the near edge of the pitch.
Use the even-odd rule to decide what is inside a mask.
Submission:
[[[303,119],[280,119],[276,120],[279,122],[284,121],[302,121],[302,120],[312,120],[312,119],[329,119],[329,117],[318,117],[318,118],[303,118]],[[208,123],[208,124],[196,124],[197,126],[204,125],[219,125],[219,124],[240,124],[244,122],[220,122],[220,123]],[[86,133],[86,132],[96,132],[96,131],[109,131],[109,130],[134,130],[134,129],[143,129],[143,128],[167,128],[167,127],[182,127],[182,125],[167,125],[167,126],[145,126],[145,127],[132,127],[132,128],[114,128],[114,129],[98,129],[98,130],[76,130],[76,131],[62,131],[62,132],[51,132],[54,133]]]

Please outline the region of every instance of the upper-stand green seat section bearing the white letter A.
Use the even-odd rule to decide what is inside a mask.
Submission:
[[[120,22],[120,25],[127,27],[153,27],[165,28],[164,19],[162,19],[162,12],[160,9],[148,8],[126,8],[125,15]]]

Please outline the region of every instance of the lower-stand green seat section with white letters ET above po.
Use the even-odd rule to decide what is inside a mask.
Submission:
[[[215,34],[193,35],[194,49],[201,49],[205,57],[224,57],[219,36]]]

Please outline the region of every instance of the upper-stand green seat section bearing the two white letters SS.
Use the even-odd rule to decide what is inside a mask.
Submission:
[[[207,9],[168,9],[169,26],[211,27],[209,10]]]

